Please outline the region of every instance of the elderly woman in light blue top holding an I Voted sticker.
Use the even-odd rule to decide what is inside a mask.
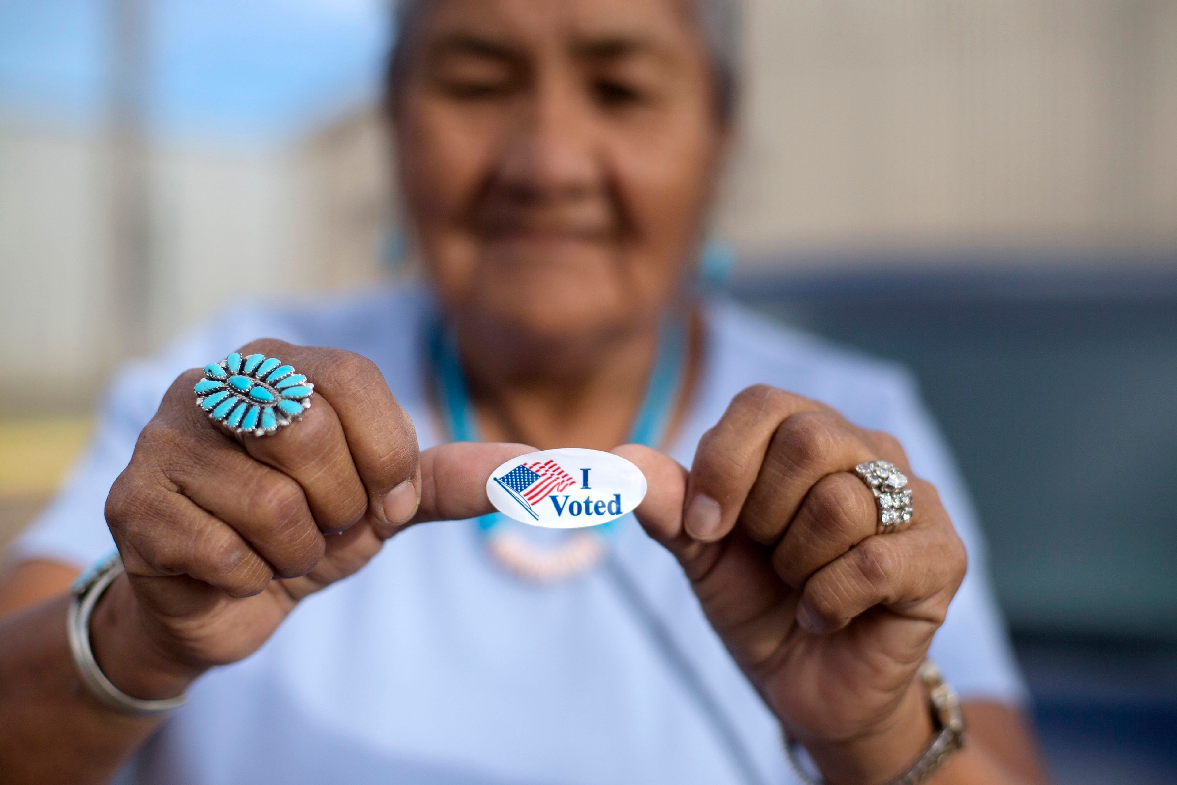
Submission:
[[[119,375],[0,594],[5,783],[1040,781],[909,378],[696,295],[733,21],[403,4],[427,288],[242,300]],[[301,420],[194,405],[234,350]],[[488,514],[498,465],[567,446],[643,470],[636,520]]]

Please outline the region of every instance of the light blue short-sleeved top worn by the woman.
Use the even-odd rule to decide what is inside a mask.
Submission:
[[[107,553],[107,491],[162,392],[182,370],[254,338],[371,358],[413,418],[421,447],[437,444],[443,437],[423,367],[430,307],[415,288],[251,306],[157,360],[126,367],[93,444],[13,556],[85,567]],[[700,434],[756,382],[824,400],[897,435],[915,471],[939,488],[970,554],[932,657],[965,699],[1023,701],[973,508],[912,379],[725,301],[707,304],[706,324],[701,385],[672,454],[689,466]],[[358,574],[305,600],[254,656],[201,678],[191,703],[115,781],[794,781],[777,723],[707,625],[673,558],[632,518],[621,521],[613,547],[627,588],[605,570],[541,586],[504,571],[471,521],[410,530]],[[659,631],[669,643],[658,640]],[[667,661],[667,646],[701,684]]]

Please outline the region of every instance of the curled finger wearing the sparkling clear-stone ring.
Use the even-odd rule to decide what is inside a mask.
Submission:
[[[870,488],[838,472],[817,481],[772,551],[780,579],[800,588],[811,574],[875,534],[878,512]]]

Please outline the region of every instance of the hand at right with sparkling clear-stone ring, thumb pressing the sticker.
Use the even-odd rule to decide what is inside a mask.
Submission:
[[[686,472],[646,447],[637,510],[681,563],[711,624],[785,730],[831,783],[887,781],[930,743],[917,678],[965,573],[936,490],[890,435],[769,386],[750,387]],[[913,491],[910,524],[877,534],[855,466],[889,460]]]

